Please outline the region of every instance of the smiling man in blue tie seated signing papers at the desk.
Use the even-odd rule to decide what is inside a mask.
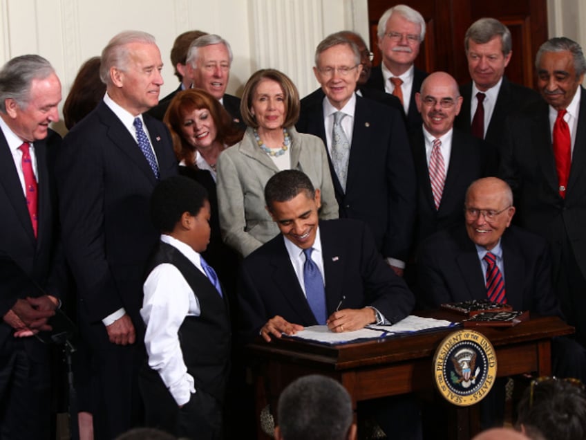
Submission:
[[[242,264],[238,300],[246,340],[260,334],[268,342],[316,324],[357,330],[393,324],[410,313],[413,293],[385,264],[366,224],[319,221],[319,190],[303,172],[272,176],[265,201],[281,234]],[[366,402],[361,413],[374,415],[397,438],[421,438],[419,410],[410,396]]]

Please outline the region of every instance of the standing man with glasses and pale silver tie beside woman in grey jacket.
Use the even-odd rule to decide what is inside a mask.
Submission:
[[[398,110],[355,93],[362,70],[353,42],[333,34],[316,48],[314,73],[325,98],[303,108],[296,127],[328,149],[340,217],[364,221],[402,275],[415,221],[415,169]]]

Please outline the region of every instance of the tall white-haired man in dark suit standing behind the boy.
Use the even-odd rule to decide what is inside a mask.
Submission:
[[[79,327],[97,363],[97,438],[142,422],[142,282],[158,231],[149,198],[177,173],[171,138],[144,111],[163,83],[152,35],[126,31],[102,51],[104,101],[64,138],[57,161],[64,245],[79,298]]]

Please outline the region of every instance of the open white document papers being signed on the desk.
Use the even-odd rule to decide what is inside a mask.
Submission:
[[[298,331],[296,334],[290,336],[290,338],[325,342],[326,344],[343,344],[344,342],[352,342],[355,340],[386,338],[399,333],[415,333],[417,331],[429,329],[444,329],[454,327],[455,325],[457,325],[457,322],[409,315],[404,320],[397,322],[397,324],[369,325],[364,329],[343,331],[342,333],[334,333],[333,331],[330,331],[327,325],[314,325],[312,327],[305,327],[305,329]]]

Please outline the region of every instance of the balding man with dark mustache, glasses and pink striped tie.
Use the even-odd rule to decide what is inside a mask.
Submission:
[[[497,154],[492,145],[453,127],[462,97],[448,73],[426,77],[415,102],[423,119],[422,127],[410,136],[417,172],[415,243],[419,244],[433,232],[462,223],[466,189],[477,178],[497,172]]]

